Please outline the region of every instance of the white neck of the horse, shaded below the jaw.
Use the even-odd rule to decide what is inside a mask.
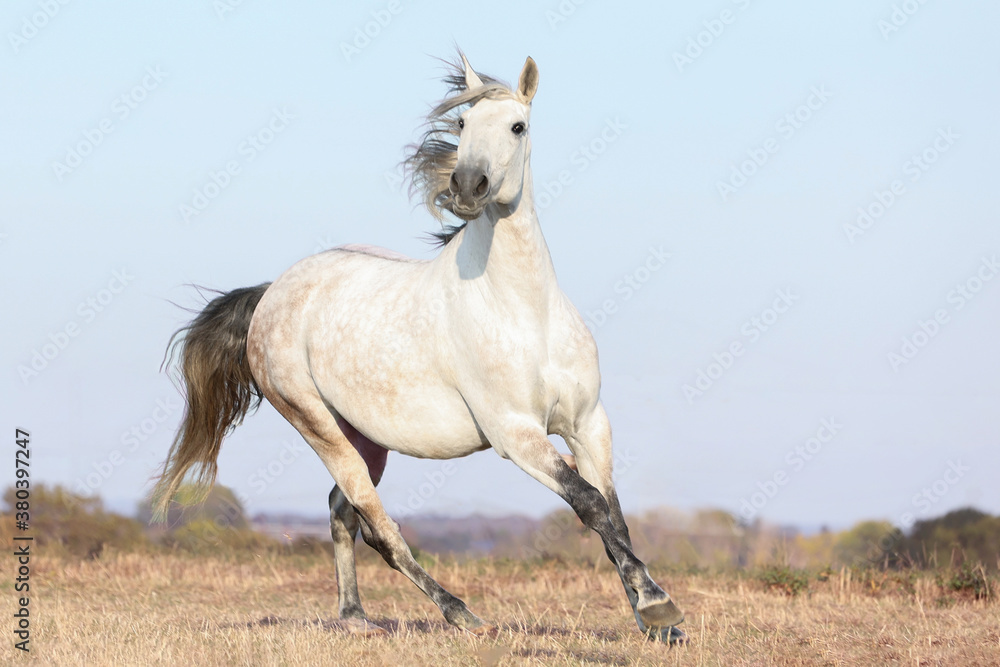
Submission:
[[[535,214],[531,169],[527,165],[523,184],[514,206],[490,206],[483,216],[466,225],[463,238],[456,239],[456,259],[461,278],[483,278],[495,297],[545,312],[559,287]]]

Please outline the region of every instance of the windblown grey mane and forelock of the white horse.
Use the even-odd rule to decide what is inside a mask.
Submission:
[[[517,99],[517,93],[506,83],[479,72],[483,85],[469,90],[465,85],[461,52],[454,61],[444,62],[448,72],[441,80],[448,86],[448,95],[427,114],[427,129],[420,143],[407,146],[408,155],[403,161],[410,179],[410,196],[419,192],[427,210],[441,221],[442,230],[431,232],[438,245],[446,245],[465,227],[465,222],[445,224],[444,217],[445,211],[451,212],[449,181],[458,162],[458,117],[483,99]]]

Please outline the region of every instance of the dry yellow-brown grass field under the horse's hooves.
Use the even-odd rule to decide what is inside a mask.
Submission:
[[[637,632],[604,564],[428,563],[496,624],[487,636],[446,625],[373,557],[361,559],[359,580],[369,615],[388,630],[381,636],[336,620],[333,566],[320,555],[105,552],[32,565],[32,650],[8,640],[7,664],[1000,665],[1000,605],[949,595],[932,574],[907,583],[833,573],[791,596],[747,574],[654,570],[687,614],[691,642],[669,648]]]

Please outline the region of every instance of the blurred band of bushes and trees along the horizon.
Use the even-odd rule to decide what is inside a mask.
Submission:
[[[98,497],[62,487],[31,491],[30,534],[39,551],[74,558],[99,558],[107,550],[175,551],[194,555],[321,553],[322,538],[273,537],[251,525],[233,492],[216,485],[205,502],[184,507],[182,488],[165,524],[149,523],[148,503],[136,517],[104,509]],[[3,496],[0,541],[15,533],[14,489]],[[906,533],[887,521],[863,521],[848,530],[802,535],[762,521],[741,523],[721,510],[684,513],[669,509],[629,517],[636,553],[650,565],[681,569],[786,568],[832,571],[977,570],[996,576],[1000,568],[1000,517],[973,508],[919,521]],[[425,557],[481,557],[530,561],[559,559],[595,567],[606,556],[600,539],[569,510],[542,520],[525,517],[414,517],[403,523],[415,553]],[[374,557],[359,547],[359,557]]]

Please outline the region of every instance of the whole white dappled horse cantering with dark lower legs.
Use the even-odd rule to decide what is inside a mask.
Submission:
[[[492,448],[601,536],[639,629],[679,641],[683,614],[632,552],[611,478],[597,347],[559,289],[535,213],[529,128],[538,69],[528,58],[511,90],[477,75],[464,55],[461,62],[408,164],[432,213],[464,222],[437,235],[443,248],[430,261],[343,246],[270,285],[211,301],[178,339],[187,411],[157,507],[162,515],[191,470],[201,488],[211,485],[223,437],[266,397],[336,482],[341,618],[368,627],[354,561],[360,528],[449,623],[482,632],[489,626],[414,560],[375,486],[388,450],[450,459]],[[576,469],[549,434],[566,441]]]

